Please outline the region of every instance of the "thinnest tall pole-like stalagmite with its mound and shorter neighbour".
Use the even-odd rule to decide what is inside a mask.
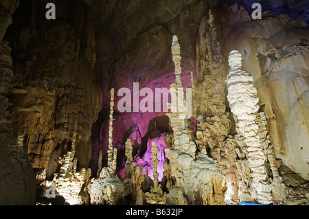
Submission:
[[[119,205],[124,202],[124,198],[132,194],[136,199],[136,205],[143,205],[144,196],[141,191],[141,174],[143,171],[140,167],[135,167],[132,152],[133,147],[130,139],[126,141],[126,174],[123,179],[119,179],[116,174],[117,166],[117,148],[113,147],[113,106],[114,106],[114,89],[111,89],[110,117],[108,131],[108,162],[107,166],[98,172],[98,178],[92,178],[87,186],[91,205]],[[99,157],[99,159],[101,159]]]

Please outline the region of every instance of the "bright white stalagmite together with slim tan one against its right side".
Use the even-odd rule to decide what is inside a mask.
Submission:
[[[284,198],[284,186],[279,178],[273,148],[269,144],[266,118],[264,113],[258,113],[257,89],[253,86],[251,74],[242,69],[242,58],[239,51],[231,51],[229,65],[231,69],[227,76],[227,99],[236,121],[238,142],[243,141],[246,144],[244,150],[252,177],[251,196],[256,197],[258,203],[270,204],[273,203],[273,196],[277,196],[276,200]],[[271,166],[273,182],[268,175],[267,162]]]

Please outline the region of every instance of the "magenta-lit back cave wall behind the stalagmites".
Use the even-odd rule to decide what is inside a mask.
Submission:
[[[150,123],[150,120],[154,119],[155,117],[161,117],[166,114],[166,112],[155,112],[155,88],[167,88],[170,89],[170,84],[174,83],[175,76],[174,72],[170,72],[168,74],[165,74],[163,76],[159,76],[158,78],[153,79],[150,82],[139,82],[139,91],[145,87],[150,88],[153,92],[153,108],[154,112],[141,112],[139,109],[139,112],[133,112],[133,82],[136,82],[136,80],[133,80],[132,78],[122,78],[121,80],[117,81],[117,84],[114,84],[115,89],[115,99],[114,99],[114,113],[113,113],[113,147],[118,149],[117,154],[117,170],[116,173],[119,176],[119,178],[123,178],[124,174],[126,173],[125,164],[126,164],[126,157],[124,156],[125,151],[125,143],[126,139],[130,139],[132,142],[132,145],[135,147],[138,145],[141,145],[141,139],[146,136],[146,133],[148,133],[148,125]],[[182,73],[181,81],[183,84],[184,91],[187,87],[191,87],[191,71],[186,71],[185,73]],[[131,91],[131,106],[132,111],[131,112],[119,112],[117,108],[117,104],[119,100],[123,98],[123,96],[118,96],[117,92],[122,87],[126,87],[130,89]],[[102,151],[102,163],[103,166],[107,163],[107,150],[108,150],[108,108],[109,108],[109,101],[110,99],[107,98],[110,96],[110,93],[106,90],[102,91],[106,97],[103,99],[103,108],[105,108],[105,114],[102,113],[102,115],[99,115],[99,119],[95,124],[93,124],[93,152],[92,152],[92,159],[89,165],[89,168],[91,168],[93,176],[95,176],[96,169],[98,167],[98,154],[99,151]],[[163,96],[161,98],[161,108],[163,107]],[[139,102],[143,100],[144,97],[139,97]],[[170,95],[168,98],[168,102],[170,102]],[[194,128],[196,127],[196,121],[194,118],[191,119],[191,121],[194,123]],[[130,132],[128,132],[130,130]],[[195,130],[194,130],[195,131]],[[159,160],[159,164],[157,166],[157,172],[159,174],[158,180],[161,181],[163,178],[163,163],[166,159],[165,155],[165,148],[166,143],[164,141],[164,135],[165,132],[157,132],[155,136],[150,136],[151,138],[147,139],[147,150],[145,153],[142,154],[141,157],[139,157],[139,150],[135,148],[135,152],[137,154],[133,154],[135,156],[135,165],[141,165],[141,168],[144,170],[144,174],[148,174],[148,177],[150,177],[153,180],[153,172],[152,172],[152,141],[155,141],[157,144],[157,148],[159,150],[157,159]],[[137,150],[137,151],[136,151]]]

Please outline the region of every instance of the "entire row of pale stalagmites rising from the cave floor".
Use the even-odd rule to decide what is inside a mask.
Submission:
[[[168,149],[165,150],[168,162],[164,163],[164,175],[168,179],[163,192],[158,182],[158,148],[152,142],[153,185],[144,194],[141,183],[145,180],[143,170],[135,166],[130,139],[126,141],[126,174],[119,179],[116,170],[117,148],[113,147],[113,106],[114,90],[111,90],[111,108],[108,131],[108,165],[102,168],[102,152],[98,158],[97,178],[89,179],[89,170],[76,172],[74,158],[76,135],[72,139],[72,149],[67,152],[59,174],[54,182],[58,194],[65,197],[71,205],[89,203],[91,205],[117,205],[125,197],[132,195],[136,205],[225,205],[238,201],[273,203],[284,200],[288,189],[282,183],[277,169],[277,161],[266,127],[266,117],[259,112],[257,90],[253,86],[253,77],[242,69],[239,51],[233,50],[229,56],[231,67],[227,76],[227,100],[233,118],[225,109],[223,56],[220,43],[216,41],[214,17],[209,11],[208,25],[211,31],[205,34],[207,43],[206,59],[201,58],[203,82],[192,88],[196,98],[202,103],[196,106],[196,137],[183,111],[170,111],[172,134],[165,136]],[[178,38],[173,37],[172,58],[175,65],[175,83],[171,84],[171,95],[179,100],[184,95],[181,84],[181,54]],[[205,54],[201,54],[205,55]],[[182,100],[183,98],[180,98]],[[196,103],[194,99],[192,104]],[[186,105],[183,106],[186,109]],[[169,108],[179,108],[172,102]],[[186,111],[185,111],[186,112]],[[235,122],[236,134],[230,129]],[[169,141],[169,143],[168,143]],[[207,153],[209,149],[210,154]],[[210,157],[210,156],[212,157]],[[173,178],[174,183],[171,183]],[[48,183],[50,185],[50,183]],[[225,191],[226,189],[226,191]],[[223,195],[225,194],[225,196]]]

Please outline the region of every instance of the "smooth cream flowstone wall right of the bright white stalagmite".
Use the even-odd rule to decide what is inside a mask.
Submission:
[[[232,49],[240,51],[243,69],[252,73],[276,159],[308,180],[308,24],[286,14],[274,18],[273,12],[251,21],[238,5],[217,13],[226,21],[220,25],[222,52],[228,57]]]

